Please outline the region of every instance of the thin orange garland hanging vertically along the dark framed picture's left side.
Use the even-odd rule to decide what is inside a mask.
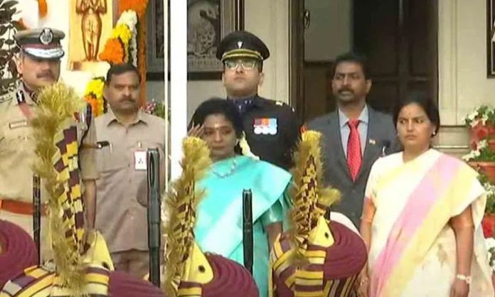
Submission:
[[[146,102],[146,11],[148,0],[119,0],[119,13],[131,9],[136,11],[139,20],[139,31],[137,34],[137,69],[141,76],[141,104]]]

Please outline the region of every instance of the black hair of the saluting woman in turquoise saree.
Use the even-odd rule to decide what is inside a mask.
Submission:
[[[219,97],[210,98],[199,104],[188,124],[188,129],[191,129],[193,125],[202,125],[206,117],[212,114],[222,114],[225,119],[232,123],[235,135],[238,138],[243,135],[243,118],[240,116],[238,108],[230,100]]]

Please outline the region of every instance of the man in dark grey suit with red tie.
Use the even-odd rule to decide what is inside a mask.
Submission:
[[[342,193],[335,210],[358,227],[371,166],[380,156],[398,151],[392,118],[366,104],[371,80],[366,58],[346,53],[336,58],[332,90],[337,109],[307,124],[323,134],[324,183]]]

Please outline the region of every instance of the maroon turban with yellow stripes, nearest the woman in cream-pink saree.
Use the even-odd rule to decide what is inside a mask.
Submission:
[[[293,250],[287,238],[275,242],[271,254],[274,296],[350,296],[359,272],[366,264],[366,247],[358,234],[331,222],[334,244],[310,243],[305,257],[309,264],[297,269],[289,259]]]

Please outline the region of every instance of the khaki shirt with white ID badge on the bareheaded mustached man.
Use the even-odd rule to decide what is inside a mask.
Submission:
[[[147,171],[137,170],[136,152],[158,148],[160,187],[164,188],[165,121],[139,112],[136,121],[124,126],[112,110],[97,117],[97,141],[108,141],[97,152],[97,212],[95,226],[110,252],[148,250]],[[141,155],[142,156],[142,155]]]

